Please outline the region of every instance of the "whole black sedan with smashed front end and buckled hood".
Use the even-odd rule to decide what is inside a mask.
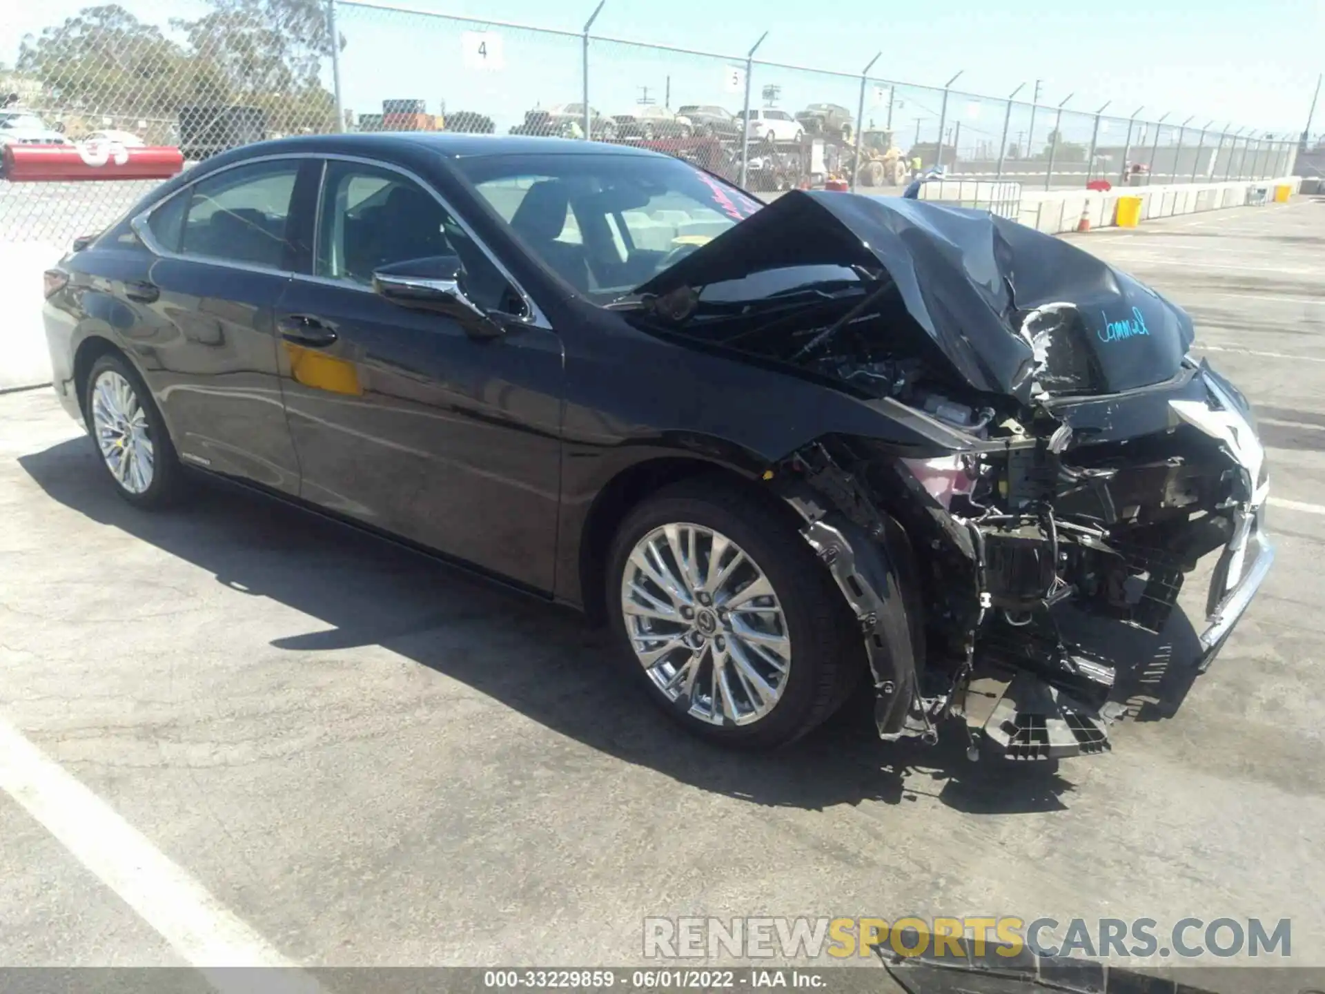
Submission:
[[[1189,315],[987,212],[301,137],[167,182],[45,290],[56,391],[130,504],[221,474],[583,608],[730,745],[868,677],[885,740],[1098,751],[1110,634],[1218,557],[1208,664],[1273,559]]]

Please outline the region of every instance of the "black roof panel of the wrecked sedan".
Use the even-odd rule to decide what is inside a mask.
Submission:
[[[386,155],[392,151],[427,148],[448,159],[477,155],[651,155],[647,148],[607,142],[583,142],[574,138],[541,138],[538,135],[469,135],[449,131],[371,131],[342,135],[292,135],[270,142],[248,144],[257,155],[285,151],[344,152],[347,155]]]

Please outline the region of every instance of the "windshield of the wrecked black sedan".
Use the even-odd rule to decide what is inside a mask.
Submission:
[[[534,256],[600,306],[762,207],[665,156],[494,155],[454,167]]]

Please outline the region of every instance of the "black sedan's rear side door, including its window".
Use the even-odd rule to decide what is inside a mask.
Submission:
[[[180,457],[292,494],[298,464],[273,314],[307,257],[288,221],[297,196],[313,195],[319,164],[262,159],[184,187],[146,219],[158,257],[126,290],[155,315],[136,350]]]

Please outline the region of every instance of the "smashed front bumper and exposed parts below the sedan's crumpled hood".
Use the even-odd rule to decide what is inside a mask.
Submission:
[[[1196,402],[1206,388],[1208,399]],[[1183,577],[1198,559],[1208,562],[1218,553],[1206,623],[1194,632],[1199,648],[1194,657],[1174,660],[1206,671],[1273,565],[1265,531],[1269,482],[1240,396],[1235,402],[1218,380],[1203,383],[1198,372],[1166,407],[1173,415],[1167,427],[1110,443],[1122,447],[1116,453],[1132,453],[1138,444],[1149,452],[1113,463],[1077,455],[1086,447],[1067,449],[1061,460],[1052,451],[1053,461],[1045,464],[1044,447],[1020,445],[991,493],[1006,498],[1044,485],[1043,496],[1022,505],[1006,500],[1002,513],[986,508],[977,517],[958,512],[957,502],[950,513],[946,498],[929,488],[937,477],[908,476],[922,465],[914,460],[892,460],[893,472],[898,464],[905,469],[890,477],[914,484],[910,518],[897,488],[889,498],[884,477],[871,474],[886,457],[872,463],[860,449],[816,443],[788,461],[802,489],[783,496],[804,520],[802,535],[860,624],[884,740],[933,742],[943,720],[954,717],[965,725],[973,754],[977,738],[1010,759],[1109,749],[1108,726],[1124,710],[1113,700],[1116,673],[1145,663],[1126,648],[1124,630],[1161,636]],[[1045,465],[1052,472],[1045,474]],[[1138,514],[1137,502],[1158,517]],[[1106,508],[1108,516],[1092,518],[1092,508]],[[937,530],[917,527],[926,521]],[[950,551],[973,563],[946,571],[926,563],[951,594],[946,607],[933,590],[926,603],[908,596],[916,590],[912,542],[925,549],[926,559]],[[1112,566],[1101,570],[1100,563]],[[954,603],[965,604],[965,614]],[[1079,641],[1061,624],[1073,612],[1094,627]],[[917,623],[926,615],[929,636],[925,623]],[[939,641],[926,655],[926,643]],[[1147,645],[1154,652],[1154,643]]]

